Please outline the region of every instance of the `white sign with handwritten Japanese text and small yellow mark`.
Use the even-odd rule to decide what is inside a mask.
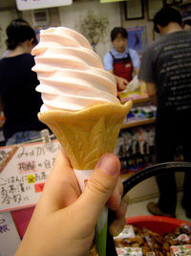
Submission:
[[[53,169],[59,143],[0,148],[0,212],[36,204]]]

